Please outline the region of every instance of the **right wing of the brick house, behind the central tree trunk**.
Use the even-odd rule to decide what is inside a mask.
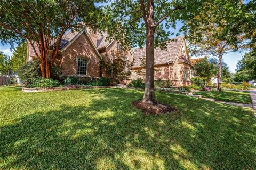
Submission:
[[[134,50],[131,79],[145,79],[146,47]],[[190,85],[191,62],[185,38],[175,37],[166,50],[154,50],[154,79],[170,80],[174,86]]]

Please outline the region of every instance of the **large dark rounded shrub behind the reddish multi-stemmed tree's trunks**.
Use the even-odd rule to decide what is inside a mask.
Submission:
[[[42,77],[39,62],[35,61],[25,63],[17,71],[17,74],[24,84],[31,84],[35,78]],[[53,66],[51,69],[51,79],[60,80],[61,78],[61,69],[58,66]]]

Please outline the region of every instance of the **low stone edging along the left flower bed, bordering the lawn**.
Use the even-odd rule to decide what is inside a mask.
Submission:
[[[79,90],[79,89],[92,89],[92,88],[113,88],[114,86],[92,86],[92,87],[52,87],[52,88],[27,88],[22,87],[23,92],[50,92],[50,91],[62,91],[62,90]]]

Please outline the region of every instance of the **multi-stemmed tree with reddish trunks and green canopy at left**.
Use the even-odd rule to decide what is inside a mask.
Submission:
[[[71,29],[97,27],[101,10],[95,2],[105,1],[0,1],[0,41],[27,40],[40,62],[42,76],[49,78],[63,35]]]

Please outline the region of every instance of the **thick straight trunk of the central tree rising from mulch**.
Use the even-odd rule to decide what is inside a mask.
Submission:
[[[146,78],[143,103],[154,104],[154,1],[148,1],[148,14],[146,24]]]

